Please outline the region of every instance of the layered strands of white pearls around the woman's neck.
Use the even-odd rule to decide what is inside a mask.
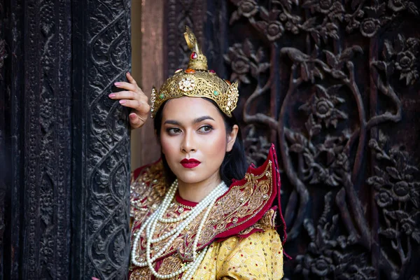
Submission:
[[[204,197],[204,199],[201,202],[199,202],[195,207],[192,207],[192,209],[188,211],[186,214],[179,216],[178,218],[163,218],[172,200],[174,200],[174,196],[177,189],[178,189],[178,180],[175,180],[174,183],[172,183],[171,188],[169,188],[169,190],[167,191],[158,209],[156,209],[156,211],[153,214],[151,214],[151,216],[149,216],[146,219],[146,221],[144,221],[140,229],[136,233],[134,233],[135,238],[134,238],[134,243],[132,247],[132,263],[134,265],[137,265],[138,267],[145,267],[147,265],[149,269],[151,269],[152,274],[155,275],[155,277],[158,279],[169,279],[183,272],[186,272],[186,273],[183,274],[182,279],[189,279],[191,276],[194,275],[198,266],[204,259],[204,255],[207,253],[207,249],[209,248],[209,246],[206,246],[205,248],[202,249],[202,251],[200,251],[200,253],[197,252],[198,241],[200,239],[202,229],[204,228],[204,223],[206,222],[207,217],[210,214],[211,208],[213,208],[214,204],[216,203],[216,200],[218,199],[218,197],[221,197],[221,195],[223,195],[228,190],[228,187],[226,186],[224,182],[222,182],[216,188],[214,188],[214,190],[212,190],[211,193],[207,195],[207,197]],[[156,272],[153,262],[157,260],[158,258],[160,258],[160,256],[163,255],[163,253],[165,253],[167,248],[171,246],[171,244],[174,242],[176,237],[179,237],[179,235],[181,235],[181,232],[186,227],[188,227],[188,225],[190,225],[190,223],[194,221],[194,219],[197,218],[197,216],[200,215],[202,211],[204,211],[204,209],[206,208],[207,208],[207,211],[204,213],[202,221],[200,222],[200,225],[197,229],[197,234],[195,235],[195,238],[193,241],[193,261],[189,263],[183,263],[183,267],[181,267],[181,269],[178,269],[176,272],[172,272],[170,274],[160,274]],[[158,222],[177,223],[180,221],[182,222],[179,223],[179,225],[177,225],[176,228],[174,228],[170,232],[165,233],[165,235],[162,235],[158,238],[153,239],[155,228]],[[136,248],[139,245],[141,232],[144,232],[144,231],[146,231],[146,261],[139,262],[137,260]],[[151,257],[151,245],[167,238],[169,238],[169,241],[167,241],[165,246],[160,248],[158,253],[155,253],[155,255]]]

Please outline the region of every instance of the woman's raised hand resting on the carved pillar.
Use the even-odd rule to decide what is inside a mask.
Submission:
[[[131,74],[127,72],[125,75],[127,76],[128,83],[114,83],[116,87],[124,89],[124,91],[113,92],[109,94],[109,98],[119,99],[121,105],[130,107],[132,109],[129,116],[130,125],[132,128],[139,128],[146,122],[151,106],[148,104],[148,98],[137,85],[136,80],[134,80]]]

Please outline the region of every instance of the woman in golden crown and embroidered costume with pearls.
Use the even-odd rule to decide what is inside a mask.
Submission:
[[[162,149],[161,160],[134,172],[130,279],[281,279],[274,147],[264,165],[246,169],[232,116],[237,83],[208,70],[188,27],[184,35],[188,68],[153,89],[151,106],[130,73],[116,83],[125,91],[110,94],[133,109],[133,128],[151,112]]]

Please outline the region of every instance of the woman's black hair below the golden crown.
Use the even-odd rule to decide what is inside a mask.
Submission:
[[[223,117],[223,121],[225,123],[226,128],[226,134],[230,134],[232,132],[233,126],[238,125],[237,119],[235,116],[232,115],[232,118],[228,117],[221,111],[221,109],[218,107],[216,102],[214,102],[211,99],[207,99],[202,97],[203,99],[206,99],[207,101],[211,102],[216,106],[219,113],[221,113],[221,116]],[[156,136],[158,137],[158,141],[160,142],[160,128],[162,127],[162,111],[165,107],[166,102],[164,102],[161,106],[158,112],[156,112],[156,116],[153,120],[153,125],[155,127]],[[174,172],[169,168],[168,162],[165,158],[165,155],[162,153],[161,150],[161,157],[162,157],[162,163],[164,167],[165,177],[167,179],[167,183],[172,183],[176,176]],[[232,179],[240,180],[244,178],[245,173],[247,169],[247,163],[246,163],[246,156],[244,151],[244,143],[242,141],[242,135],[241,130],[239,129],[238,125],[238,133],[237,137],[235,139],[235,144],[233,144],[232,150],[230,152],[227,152],[225,154],[225,158],[223,158],[223,162],[220,169],[220,175],[222,181],[226,183],[226,185],[230,186],[232,183]]]

